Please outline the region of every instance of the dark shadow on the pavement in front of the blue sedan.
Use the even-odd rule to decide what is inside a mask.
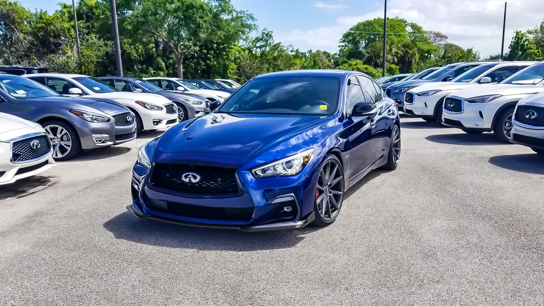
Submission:
[[[104,223],[115,238],[146,245],[206,251],[248,252],[291,248],[319,227],[248,233],[237,229],[183,226],[153,219],[139,219],[128,211]]]

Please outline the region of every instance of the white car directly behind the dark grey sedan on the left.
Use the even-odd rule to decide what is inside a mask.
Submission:
[[[100,80],[82,74],[39,73],[26,74],[61,95],[69,97],[93,97],[110,99],[124,105],[136,116],[140,130],[168,128],[177,124],[174,102],[153,93],[119,91]]]

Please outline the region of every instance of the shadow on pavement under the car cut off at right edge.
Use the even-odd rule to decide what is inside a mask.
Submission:
[[[493,156],[489,163],[497,167],[524,173],[544,174],[544,163],[539,154],[513,154]]]

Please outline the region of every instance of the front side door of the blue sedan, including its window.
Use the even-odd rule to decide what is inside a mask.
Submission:
[[[375,141],[373,141],[373,116],[352,116],[353,107],[358,102],[372,102],[364,92],[356,76],[346,83],[344,130],[340,137],[348,141],[350,156],[349,179],[354,179],[376,160]]]

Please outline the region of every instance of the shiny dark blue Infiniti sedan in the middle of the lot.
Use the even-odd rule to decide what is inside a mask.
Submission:
[[[143,145],[127,209],[248,232],[327,226],[350,186],[399,158],[397,106],[366,74],[267,73]]]

